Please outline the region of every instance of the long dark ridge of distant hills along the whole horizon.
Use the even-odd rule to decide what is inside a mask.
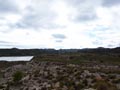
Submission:
[[[0,49],[0,56],[26,56],[40,54],[65,54],[65,53],[96,53],[96,54],[120,54],[120,47],[117,48],[94,48],[94,49]]]

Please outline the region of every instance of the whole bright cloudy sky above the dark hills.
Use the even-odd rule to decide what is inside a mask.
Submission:
[[[120,0],[0,0],[0,48],[120,46]]]

